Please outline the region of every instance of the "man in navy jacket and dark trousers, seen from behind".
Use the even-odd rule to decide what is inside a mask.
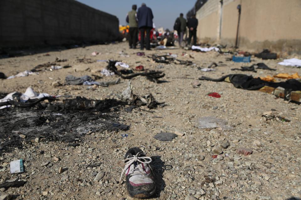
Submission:
[[[144,33],[146,32],[146,50],[150,50],[150,30],[153,28],[153,12],[142,3],[137,12],[138,28],[140,30],[140,49],[144,49]]]

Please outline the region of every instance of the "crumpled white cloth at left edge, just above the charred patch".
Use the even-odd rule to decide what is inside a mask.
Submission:
[[[13,100],[14,93],[16,93],[16,92],[9,93],[8,95],[6,95],[6,97],[4,97],[3,99],[0,99],[0,102],[7,102],[9,100]],[[27,88],[25,93],[20,96],[20,102],[25,103],[29,99],[40,99],[43,97],[50,97],[50,96],[51,95],[48,93],[40,93],[39,94],[39,93],[34,92],[34,90],[32,88]],[[2,109],[2,108],[7,108],[7,107],[2,106],[0,109]]]

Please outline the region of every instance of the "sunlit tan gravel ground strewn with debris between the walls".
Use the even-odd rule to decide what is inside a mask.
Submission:
[[[0,184],[19,179],[26,183],[22,187],[1,188],[0,194],[13,195],[13,199],[133,199],[127,195],[124,181],[122,184],[118,181],[124,168],[120,160],[128,148],[137,146],[153,159],[151,166],[157,183],[154,199],[286,200],[301,197],[300,106],[271,94],[237,89],[226,82],[198,81],[201,84],[198,88],[192,86],[201,76],[219,78],[231,73],[250,74],[254,77],[277,73],[301,74],[300,68],[277,65],[282,59],[262,61],[252,58],[251,64],[263,62],[277,71],[231,71],[231,68],[250,66],[250,63],[226,61],[230,55],[217,52],[198,53],[183,49],[145,51],[146,56],[140,57],[136,55],[139,50],[129,50],[127,46],[126,43],[96,45],[49,51],[50,56],[40,53],[0,60],[0,71],[7,76],[30,70],[39,64],[54,62],[56,57],[68,59],[58,64],[72,66],[28,77],[0,79],[1,93],[25,92],[27,87],[31,87],[39,93],[71,95],[72,98],[119,99],[122,91],[127,88],[128,80],[109,87],[89,89],[84,85],[51,85],[55,81],[64,83],[69,74],[101,76],[99,71],[107,63],[77,61],[85,57],[92,60],[122,60],[132,68],[143,65],[146,69],[164,71],[166,76],[162,80],[165,83],[153,83],[139,76],[133,78],[131,84],[134,94],[142,96],[152,93],[158,102],[167,104],[163,108],[152,109],[154,113],[140,109],[128,113],[122,107],[108,111],[106,114],[112,115],[111,117],[94,116],[95,123],[92,125],[110,119],[130,125],[130,128],[128,131],[89,129],[92,131],[86,131],[84,137],[76,138],[78,146],[74,147],[68,146],[69,143],[64,140],[41,138],[34,141],[28,132],[22,132],[22,129],[18,132],[18,128],[12,133],[11,130],[2,130],[5,132],[2,135],[6,137],[0,138],[0,145],[7,144],[13,148],[4,148],[0,155]],[[92,56],[93,51],[101,54]],[[120,51],[124,51],[129,57],[122,56]],[[189,53],[194,58],[182,56],[182,52]],[[196,65],[154,63],[147,57],[154,53],[175,53],[178,59],[188,59]],[[216,67],[216,71],[211,72],[197,68],[207,67],[212,62],[223,62],[227,66]],[[99,81],[116,79],[115,75],[103,77]],[[207,94],[211,92],[219,93],[221,98],[209,97]],[[148,110],[146,107],[141,108]],[[83,112],[85,111],[78,112],[78,115],[84,115]],[[10,113],[13,113],[12,119],[19,120],[33,114],[45,116],[45,112],[34,109],[8,108],[0,110],[1,123],[5,124]],[[69,115],[68,111],[62,114]],[[261,117],[262,114],[282,116],[290,122],[266,120]],[[72,116],[75,116],[74,113]],[[196,127],[197,119],[207,116],[223,119],[233,127],[232,130]],[[47,123],[55,124],[59,121],[58,118],[49,118]],[[87,128],[87,123],[89,122],[79,123],[79,128]],[[180,131],[185,135],[176,137],[171,142],[161,142],[153,138],[161,131]],[[12,143],[8,144],[11,139],[8,134],[12,138],[19,134],[28,137],[20,138],[20,145],[15,147]],[[128,137],[122,137],[122,134],[128,134]],[[252,154],[245,156],[237,153],[240,148],[249,148]],[[223,153],[212,158],[212,155],[220,152]],[[225,156],[225,153],[229,156]],[[24,173],[10,174],[9,163],[20,158],[24,159]],[[92,164],[97,165],[93,167]],[[60,171],[60,168],[63,169]],[[103,172],[103,178],[99,182],[94,181],[98,172]]]

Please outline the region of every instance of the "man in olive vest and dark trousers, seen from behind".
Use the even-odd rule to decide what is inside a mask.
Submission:
[[[129,23],[129,48],[136,48],[138,36],[138,23],[137,23],[137,5],[132,6],[132,10],[126,16],[126,22]]]

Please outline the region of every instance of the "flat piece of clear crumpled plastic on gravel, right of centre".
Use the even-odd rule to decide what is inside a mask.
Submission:
[[[197,127],[201,129],[221,128],[224,131],[233,130],[233,127],[228,125],[228,122],[215,117],[201,117],[196,120]]]

